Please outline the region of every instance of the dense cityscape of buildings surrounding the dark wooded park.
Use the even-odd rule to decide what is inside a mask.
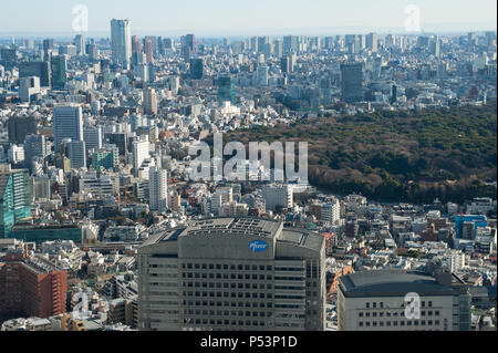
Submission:
[[[496,330],[496,196],[393,203],[258,160],[194,180],[190,152],[464,107],[495,139],[496,31],[137,37],[131,17],[0,40],[1,331]]]

